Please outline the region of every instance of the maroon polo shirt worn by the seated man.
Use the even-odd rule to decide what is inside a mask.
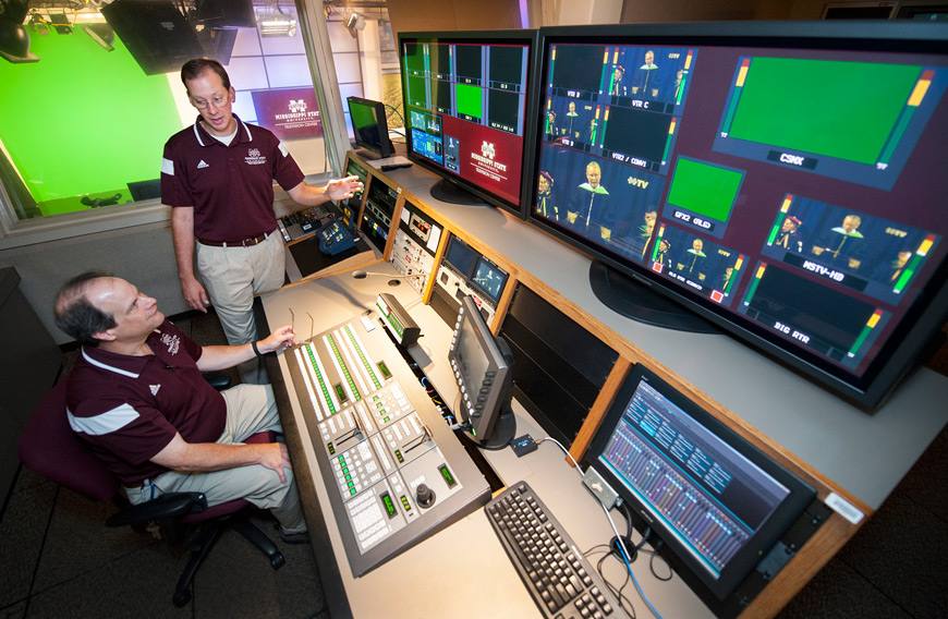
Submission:
[[[69,377],[70,425],[126,487],[168,471],[150,459],[175,432],[187,442],[214,442],[227,422],[223,396],[197,369],[198,344],[168,320],[147,343],[155,354],[83,347]]]

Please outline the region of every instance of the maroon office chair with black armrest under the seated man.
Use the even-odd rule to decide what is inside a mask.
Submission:
[[[157,522],[171,544],[181,544],[185,541],[185,533],[191,531],[186,537],[191,558],[172,596],[175,606],[182,607],[191,600],[194,574],[228,527],[259,548],[275,570],[283,566],[285,559],[276,544],[246,519],[245,508],[253,506],[244,499],[208,507],[203,493],[167,493],[137,506],[130,505],[120,494],[118,477],[70,427],[65,414],[65,386],[63,377],[27,420],[17,445],[20,460],[40,475],[93,500],[112,501],[119,511],[106,521],[106,526],[132,526],[144,531],[149,522]],[[246,442],[272,442],[274,438],[274,433],[260,433]]]

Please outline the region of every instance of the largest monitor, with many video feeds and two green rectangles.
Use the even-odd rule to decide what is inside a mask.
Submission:
[[[543,39],[530,217],[597,258],[600,299],[643,317],[634,276],[878,406],[948,314],[948,26]]]

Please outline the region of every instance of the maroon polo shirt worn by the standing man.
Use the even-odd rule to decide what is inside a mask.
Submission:
[[[200,125],[182,130],[165,144],[161,202],[194,207],[194,235],[226,243],[277,229],[274,180],[289,191],[304,174],[282,142],[236,114],[238,134],[229,146]]]

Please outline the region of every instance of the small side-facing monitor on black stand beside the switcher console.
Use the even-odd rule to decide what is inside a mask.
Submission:
[[[461,391],[458,421],[467,437],[486,449],[506,447],[516,430],[510,409],[513,355],[503,338],[490,332],[470,295],[461,300],[448,361]]]

